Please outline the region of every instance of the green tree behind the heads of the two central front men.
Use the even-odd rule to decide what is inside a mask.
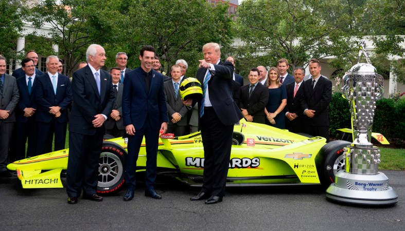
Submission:
[[[204,0],[135,0],[129,6],[127,36],[135,54],[143,45],[152,45],[166,70],[184,59],[189,63],[187,75],[192,75],[205,43],[231,44],[232,21],[225,12],[227,6],[212,7]]]

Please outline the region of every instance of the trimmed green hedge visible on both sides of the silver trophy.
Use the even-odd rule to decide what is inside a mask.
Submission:
[[[330,136],[340,138],[336,129],[351,127],[349,101],[342,97],[341,92],[334,92],[328,111]],[[376,102],[373,131],[387,139],[405,140],[404,117],[405,97],[397,101],[383,98]]]

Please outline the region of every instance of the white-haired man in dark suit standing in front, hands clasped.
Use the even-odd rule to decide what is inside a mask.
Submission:
[[[102,201],[97,195],[98,162],[104,122],[114,105],[111,75],[104,66],[105,51],[100,45],[87,48],[88,65],[73,73],[73,105],[69,120],[69,158],[66,172],[67,203],[76,204],[83,188],[83,198]]]

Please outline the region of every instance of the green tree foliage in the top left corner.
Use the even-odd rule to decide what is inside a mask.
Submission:
[[[25,1],[0,0],[0,53],[7,59],[18,59],[16,40],[23,32]]]

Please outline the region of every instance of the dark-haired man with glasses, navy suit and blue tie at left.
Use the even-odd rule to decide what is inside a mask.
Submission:
[[[15,110],[16,115],[16,153],[13,160],[21,160],[26,157],[33,157],[37,146],[37,123],[35,122],[37,102],[35,91],[37,82],[41,76],[36,75],[33,60],[26,58],[21,61],[24,77],[17,79],[20,101]],[[25,144],[28,139],[27,155],[25,155]]]

